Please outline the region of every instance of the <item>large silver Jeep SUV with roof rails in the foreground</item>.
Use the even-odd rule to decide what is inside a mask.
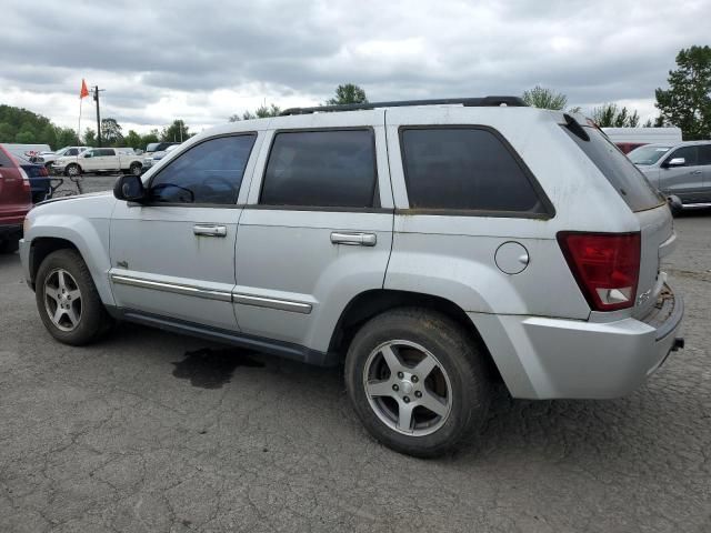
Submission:
[[[294,109],[194,137],[113,194],[44,202],[21,258],[49,332],[113,320],[344,362],[418,456],[525,399],[640,386],[682,344],[662,197],[584,117],[517,98]]]

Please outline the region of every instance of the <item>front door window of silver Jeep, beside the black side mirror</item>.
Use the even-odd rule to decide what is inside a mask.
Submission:
[[[150,201],[236,203],[256,139],[254,133],[249,133],[218,137],[196,144],[151,180]]]

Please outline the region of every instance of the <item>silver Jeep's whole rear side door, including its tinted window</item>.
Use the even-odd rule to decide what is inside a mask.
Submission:
[[[274,120],[237,235],[243,333],[326,352],[346,305],[382,288],[393,219],[383,121],[383,111]]]

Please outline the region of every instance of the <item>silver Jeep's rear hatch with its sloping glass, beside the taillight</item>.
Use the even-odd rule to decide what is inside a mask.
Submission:
[[[663,288],[665,274],[659,270],[661,258],[670,254],[675,245],[667,200],[598,128],[581,128],[569,121],[563,130],[598,167],[640,223],[640,274],[632,315],[642,318]]]

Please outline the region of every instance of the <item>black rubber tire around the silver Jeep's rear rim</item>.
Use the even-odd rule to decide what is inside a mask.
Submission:
[[[424,348],[448,375],[451,391],[449,414],[440,418],[441,426],[432,433],[403,434],[383,422],[375,411],[378,408],[371,405],[372,396],[365,390],[365,366],[379,346],[395,340]],[[485,348],[474,335],[468,334],[444,314],[419,308],[391,310],[371,319],[353,338],[346,358],[346,388],[356,413],[377,440],[408,455],[433,457],[455,449],[458,443],[480,430],[487,419],[491,383],[483,350]],[[424,386],[424,383],[420,382],[420,385]],[[387,399],[387,395],[381,398]],[[392,405],[398,404],[394,400],[388,401]]]

